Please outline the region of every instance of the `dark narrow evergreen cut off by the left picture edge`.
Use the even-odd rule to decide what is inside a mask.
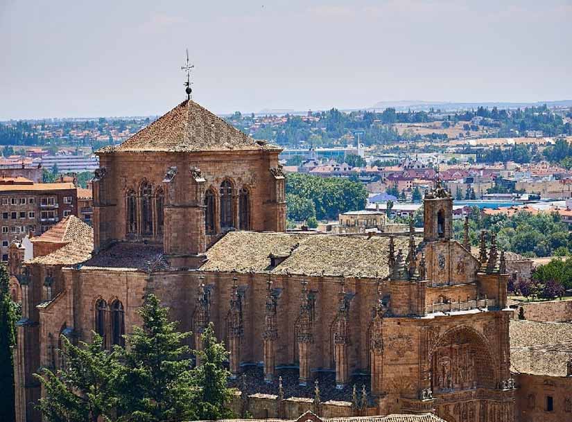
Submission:
[[[0,421],[15,419],[14,360],[12,348],[15,346],[15,306],[8,292],[8,269],[0,264]]]

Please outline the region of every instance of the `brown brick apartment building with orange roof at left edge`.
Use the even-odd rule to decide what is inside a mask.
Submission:
[[[39,236],[72,215],[78,216],[78,193],[73,183],[0,179],[0,261],[8,261],[8,247],[15,239]]]

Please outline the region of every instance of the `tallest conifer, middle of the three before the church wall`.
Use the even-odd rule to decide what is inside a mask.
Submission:
[[[190,333],[175,330],[168,308],[154,294],[137,311],[143,321],[126,336],[117,377],[121,421],[162,422],[195,419],[190,349],[182,344]]]

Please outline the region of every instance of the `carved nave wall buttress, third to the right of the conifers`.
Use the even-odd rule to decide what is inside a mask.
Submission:
[[[302,301],[298,315],[298,358],[300,359],[300,385],[307,385],[311,379],[311,347],[313,343],[313,315],[308,282],[302,281]]]

